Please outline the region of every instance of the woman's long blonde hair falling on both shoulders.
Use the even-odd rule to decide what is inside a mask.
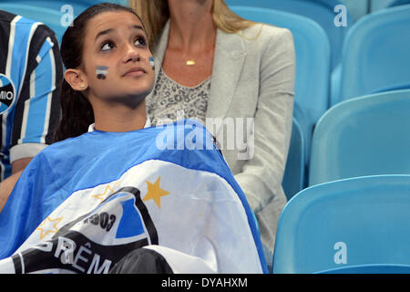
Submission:
[[[129,6],[142,18],[149,37],[149,47],[155,51],[162,28],[169,20],[168,1],[129,0]],[[237,33],[255,24],[233,13],[224,0],[213,0],[212,17],[215,25],[229,34]]]

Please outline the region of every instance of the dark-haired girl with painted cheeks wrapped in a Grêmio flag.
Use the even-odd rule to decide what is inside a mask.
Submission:
[[[94,5],[68,27],[59,142],[30,162],[0,214],[0,273],[267,271],[210,134],[190,120],[148,127],[147,44],[120,5]]]

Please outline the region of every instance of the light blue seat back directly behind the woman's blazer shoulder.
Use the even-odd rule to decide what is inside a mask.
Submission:
[[[244,18],[291,30],[296,54],[295,107],[302,110],[309,160],[313,126],[329,106],[330,45],[323,28],[313,20],[287,12],[249,6],[231,6]],[[302,122],[301,120],[298,120]]]

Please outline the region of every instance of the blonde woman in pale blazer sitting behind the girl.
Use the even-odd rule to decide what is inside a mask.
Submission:
[[[286,203],[282,175],[292,130],[292,34],[242,19],[223,0],[129,4],[143,17],[155,57],[156,85],[147,98],[151,122],[196,118],[206,124],[258,218],[272,262]],[[245,142],[246,154],[238,141]]]

